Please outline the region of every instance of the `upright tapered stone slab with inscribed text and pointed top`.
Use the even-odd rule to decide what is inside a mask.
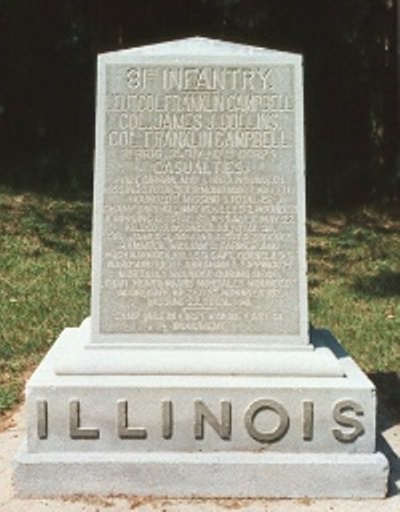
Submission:
[[[190,38],[98,77],[92,341],[306,345],[301,57]]]

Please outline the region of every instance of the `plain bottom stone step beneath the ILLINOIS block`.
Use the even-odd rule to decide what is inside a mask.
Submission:
[[[382,498],[388,463],[374,454],[27,453],[15,461],[19,497]]]

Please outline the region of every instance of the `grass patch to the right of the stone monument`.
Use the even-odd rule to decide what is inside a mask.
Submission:
[[[400,369],[400,221],[362,209],[308,223],[309,307],[366,372]]]

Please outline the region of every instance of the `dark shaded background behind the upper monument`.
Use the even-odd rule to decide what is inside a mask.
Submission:
[[[304,55],[311,207],[396,199],[396,0],[0,0],[0,184],[90,195],[98,53],[202,35]]]

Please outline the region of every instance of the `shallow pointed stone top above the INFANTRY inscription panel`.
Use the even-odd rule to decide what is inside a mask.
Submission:
[[[293,63],[299,59],[299,54],[283,52],[279,50],[271,50],[260,48],[257,46],[244,45],[221,41],[219,39],[209,39],[207,37],[188,37],[167,41],[164,43],[151,44],[125,50],[107,52],[100,55],[102,60],[106,62],[123,63],[136,59],[217,59],[227,60],[250,59],[254,61],[279,61]]]

